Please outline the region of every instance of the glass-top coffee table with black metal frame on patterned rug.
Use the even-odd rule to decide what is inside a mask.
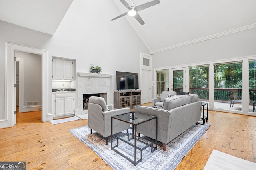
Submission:
[[[130,119],[127,119],[126,114],[130,114]],[[113,119],[123,121],[126,123],[129,123],[132,125],[132,133],[125,133],[124,135],[117,136],[117,144],[113,146]],[[156,141],[155,141],[155,147],[153,146],[153,142],[148,141],[146,139],[138,137],[137,134],[137,125],[140,125],[142,123],[145,123],[147,121],[150,121],[152,119],[156,120]],[[134,147],[134,160],[131,158],[128,158],[128,156],[124,155],[123,153],[119,152],[115,148],[119,145],[119,140],[127,143],[128,145],[131,145]],[[157,150],[157,117],[152,115],[146,115],[141,113],[125,113],[122,115],[112,116],[111,117],[111,149],[132,162],[134,165],[138,164],[142,161],[142,151],[148,147],[151,147],[151,152],[154,152]],[[140,159],[137,160],[137,149],[140,150]]]

